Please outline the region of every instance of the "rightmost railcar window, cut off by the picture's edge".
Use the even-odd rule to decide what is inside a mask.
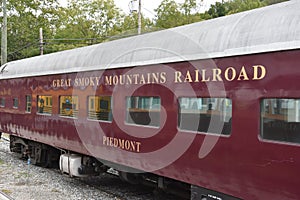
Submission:
[[[300,143],[300,99],[263,99],[261,131],[263,139]]]

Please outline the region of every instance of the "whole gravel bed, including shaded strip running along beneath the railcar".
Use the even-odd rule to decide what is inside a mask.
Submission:
[[[92,178],[71,178],[56,169],[28,165],[0,140],[0,191],[15,200],[146,200],[178,199],[154,195],[153,188],[130,185],[109,174]]]

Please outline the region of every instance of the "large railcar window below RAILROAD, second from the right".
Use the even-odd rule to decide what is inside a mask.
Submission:
[[[232,101],[227,98],[179,98],[182,130],[230,135]]]

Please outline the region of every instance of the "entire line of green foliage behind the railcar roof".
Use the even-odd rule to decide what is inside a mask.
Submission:
[[[199,1],[162,0],[154,20],[142,16],[142,32],[166,29],[270,5],[284,0],[223,0],[199,13]],[[105,42],[137,34],[137,13],[125,15],[114,0],[8,0],[8,60]],[[2,16],[0,14],[0,16]],[[0,18],[0,22],[2,17]]]

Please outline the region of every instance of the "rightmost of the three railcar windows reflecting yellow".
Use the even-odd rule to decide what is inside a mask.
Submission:
[[[111,96],[89,96],[88,102],[88,119],[112,121]]]

